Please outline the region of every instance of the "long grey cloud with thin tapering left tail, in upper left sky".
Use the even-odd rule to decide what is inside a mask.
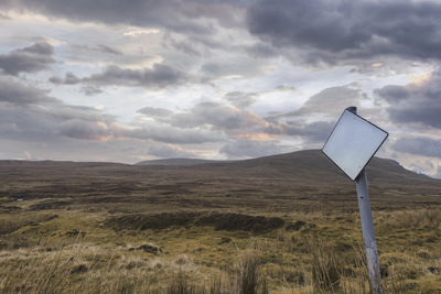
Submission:
[[[169,65],[154,64],[152,68],[127,69],[117,65],[107,66],[101,73],[79,78],[67,73],[64,78],[51,77],[49,80],[57,85],[76,85],[79,83],[94,86],[127,86],[143,88],[165,88],[181,85],[191,78],[182,70]]]

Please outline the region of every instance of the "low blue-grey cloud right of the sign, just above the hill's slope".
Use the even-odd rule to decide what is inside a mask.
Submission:
[[[391,148],[399,152],[441,157],[441,141],[430,138],[400,138]]]

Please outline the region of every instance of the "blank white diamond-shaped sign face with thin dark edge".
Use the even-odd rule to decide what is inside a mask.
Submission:
[[[377,126],[345,110],[322,151],[355,181],[387,137]]]

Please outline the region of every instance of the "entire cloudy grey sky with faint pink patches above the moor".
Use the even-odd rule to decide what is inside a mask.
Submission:
[[[0,159],[246,159],[348,106],[441,177],[441,2],[2,0]]]

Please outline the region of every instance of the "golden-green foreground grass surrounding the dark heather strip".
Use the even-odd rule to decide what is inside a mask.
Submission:
[[[105,221],[111,217],[60,209],[2,214],[2,291],[166,293],[181,279],[194,293],[209,293],[216,283],[233,293],[239,286],[232,276],[237,280],[249,254],[270,293],[369,291],[356,213],[278,215],[284,226],[259,233],[179,224],[114,230]],[[388,293],[439,293],[441,210],[379,211],[374,218]]]

